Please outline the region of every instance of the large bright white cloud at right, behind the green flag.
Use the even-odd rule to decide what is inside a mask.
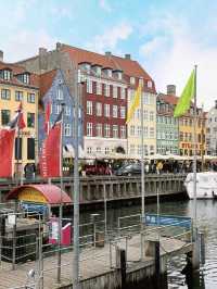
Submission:
[[[193,66],[197,64],[197,103],[205,109],[214,105],[216,90],[217,50],[203,42],[199,35],[182,18],[153,18],[145,30],[153,28],[155,36],[140,47],[144,67],[153,76],[156,88],[166,90],[166,85],[177,85],[180,95]],[[207,39],[207,35],[206,35]]]

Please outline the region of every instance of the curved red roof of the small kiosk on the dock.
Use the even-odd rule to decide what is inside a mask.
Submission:
[[[62,200],[63,203],[72,203],[72,199],[65,191],[61,191],[61,188],[54,185],[24,185],[14,188],[11,190],[8,196],[7,200],[15,199],[17,194],[22,191],[22,189],[29,188],[36,189],[43,194],[48,203],[50,204],[59,204]]]

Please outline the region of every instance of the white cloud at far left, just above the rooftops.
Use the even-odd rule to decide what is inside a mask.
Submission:
[[[53,49],[58,39],[52,38],[44,30],[22,30],[8,38],[1,46],[4,51],[4,61],[16,62],[36,55],[39,47]]]

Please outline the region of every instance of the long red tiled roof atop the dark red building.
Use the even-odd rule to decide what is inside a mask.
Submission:
[[[154,81],[151,76],[142,68],[142,66],[133,60],[124,59],[115,55],[103,55],[100,53],[91,52],[76,47],[62,45],[62,51],[67,52],[76,64],[79,63],[91,63],[92,65],[98,64],[102,67],[110,67],[112,70],[120,70],[127,76],[142,77],[145,80],[152,80],[152,91],[155,92]],[[150,90],[150,89],[149,89]]]

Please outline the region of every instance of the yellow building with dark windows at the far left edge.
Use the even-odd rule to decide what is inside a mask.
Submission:
[[[28,73],[24,67],[2,61],[0,51],[0,127],[13,118],[22,102],[26,127],[21,131],[22,146],[17,148],[17,133],[13,158],[14,173],[21,172],[26,164],[36,164],[38,139],[38,76]],[[20,156],[20,162],[16,161]]]

